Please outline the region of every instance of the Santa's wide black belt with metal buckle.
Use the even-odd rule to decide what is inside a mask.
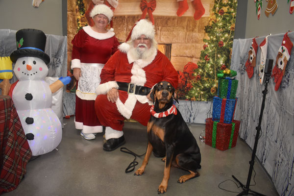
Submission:
[[[127,94],[133,95],[148,95],[151,91],[150,88],[146,86],[139,86],[133,83],[117,82],[119,85],[119,90],[127,92]]]

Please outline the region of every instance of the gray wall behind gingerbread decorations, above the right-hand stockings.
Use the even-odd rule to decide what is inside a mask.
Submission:
[[[245,38],[286,33],[288,30],[294,31],[294,13],[289,13],[290,2],[287,3],[287,0],[278,0],[277,3],[278,9],[275,14],[273,16],[270,14],[269,17],[267,17],[265,15],[265,10],[268,2],[264,0],[260,19],[258,20],[254,1],[248,1]]]

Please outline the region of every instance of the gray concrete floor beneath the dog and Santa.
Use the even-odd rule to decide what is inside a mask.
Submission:
[[[27,164],[25,178],[18,188],[4,196],[155,196],[163,177],[164,162],[151,155],[142,176],[125,173],[134,159],[120,148],[106,152],[102,149],[103,133],[87,141],[76,130],[71,119],[64,119],[63,138],[58,150],[39,156]],[[177,183],[188,172],[172,168],[168,191],[165,196],[236,196],[242,192],[232,175],[246,184],[251,150],[238,139],[237,146],[221,151],[199,140],[205,125],[189,125],[201,151],[200,176],[183,184]],[[203,133],[204,134],[204,133]],[[146,127],[126,122],[126,144],[123,147],[143,154],[147,147]],[[137,158],[141,166],[143,157]],[[136,170],[135,169],[135,170]],[[278,196],[269,176],[255,161],[250,189],[267,196]],[[223,183],[222,183],[223,182]],[[231,192],[221,190],[218,186]],[[239,185],[239,184],[238,184]],[[233,193],[232,193],[233,192]]]

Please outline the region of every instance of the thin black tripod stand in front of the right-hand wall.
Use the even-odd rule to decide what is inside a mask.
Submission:
[[[261,130],[261,120],[262,120],[263,110],[265,108],[266,95],[268,93],[268,83],[270,80],[270,73],[265,73],[265,76],[266,76],[265,90],[262,91],[263,99],[262,99],[261,111],[260,111],[260,115],[259,115],[258,126],[256,127],[257,132],[256,132],[254,147],[253,147],[253,151],[252,151],[252,157],[251,157],[251,161],[249,161],[250,168],[249,168],[249,172],[248,172],[246,186],[244,184],[242,184],[234,175],[232,175],[232,177],[240,184],[240,186],[243,189],[243,191],[241,193],[239,193],[237,196],[244,196],[244,195],[245,196],[247,196],[247,195],[266,196],[266,195],[263,195],[261,193],[258,193],[258,192],[255,192],[255,191],[252,191],[251,189],[249,189],[251,175],[252,175],[252,171],[253,171],[254,159],[255,159],[255,154],[256,154],[256,149],[257,149],[257,143],[258,143],[258,139],[259,139],[259,133]]]

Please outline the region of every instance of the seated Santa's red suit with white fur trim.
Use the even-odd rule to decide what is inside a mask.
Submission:
[[[101,71],[101,83],[96,89],[95,110],[100,123],[115,130],[123,130],[123,120],[134,119],[147,125],[152,101],[147,96],[127,94],[119,90],[116,103],[107,100],[106,93],[112,88],[119,89],[117,82],[134,83],[152,88],[160,81],[168,81],[174,88],[178,84],[178,74],[170,60],[156,47],[151,47],[151,55],[146,59],[136,59],[128,44],[107,61]]]

